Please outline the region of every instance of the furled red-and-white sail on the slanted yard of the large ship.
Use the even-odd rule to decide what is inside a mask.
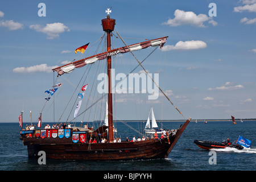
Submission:
[[[167,37],[168,36],[159,39],[147,40],[146,42],[133,44],[128,47],[131,49],[131,51],[138,51],[140,49],[144,49],[150,46],[160,46],[160,48],[162,48],[163,44],[166,43]],[[129,52],[129,48],[121,47],[117,49],[112,49],[108,52],[102,52],[94,56],[86,57],[84,59],[63,65],[61,67],[54,68],[52,70],[56,71],[59,75],[63,75],[64,73],[71,73],[75,68],[84,67],[86,64],[93,64],[95,61],[106,59],[106,57],[108,56],[115,56],[118,55],[118,53]]]

